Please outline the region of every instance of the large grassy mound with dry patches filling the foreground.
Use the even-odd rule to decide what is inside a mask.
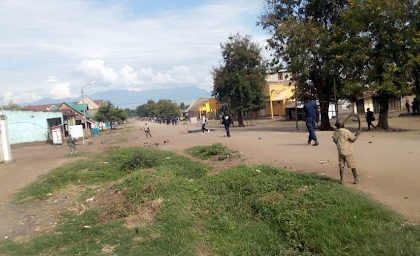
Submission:
[[[193,149],[190,149],[193,150]],[[420,228],[336,182],[269,166],[212,167],[118,149],[52,171],[17,203],[80,186],[83,211],[5,255],[419,255]]]

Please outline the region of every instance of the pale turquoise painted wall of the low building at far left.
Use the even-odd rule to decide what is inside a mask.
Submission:
[[[9,126],[10,144],[48,140],[50,118],[61,118],[61,112],[9,111],[5,110]]]

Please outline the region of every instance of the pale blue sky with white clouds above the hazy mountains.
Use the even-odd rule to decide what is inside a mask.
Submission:
[[[220,43],[250,35],[263,0],[0,0],[1,103],[103,90],[210,91]],[[89,85],[96,81],[93,85]]]

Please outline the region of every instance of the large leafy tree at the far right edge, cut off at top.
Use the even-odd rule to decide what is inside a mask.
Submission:
[[[359,86],[379,98],[378,128],[389,129],[389,99],[418,86],[416,8],[412,0],[359,0],[344,15],[345,30],[351,31],[345,43],[358,56],[358,63],[348,58],[348,64],[358,70]]]

